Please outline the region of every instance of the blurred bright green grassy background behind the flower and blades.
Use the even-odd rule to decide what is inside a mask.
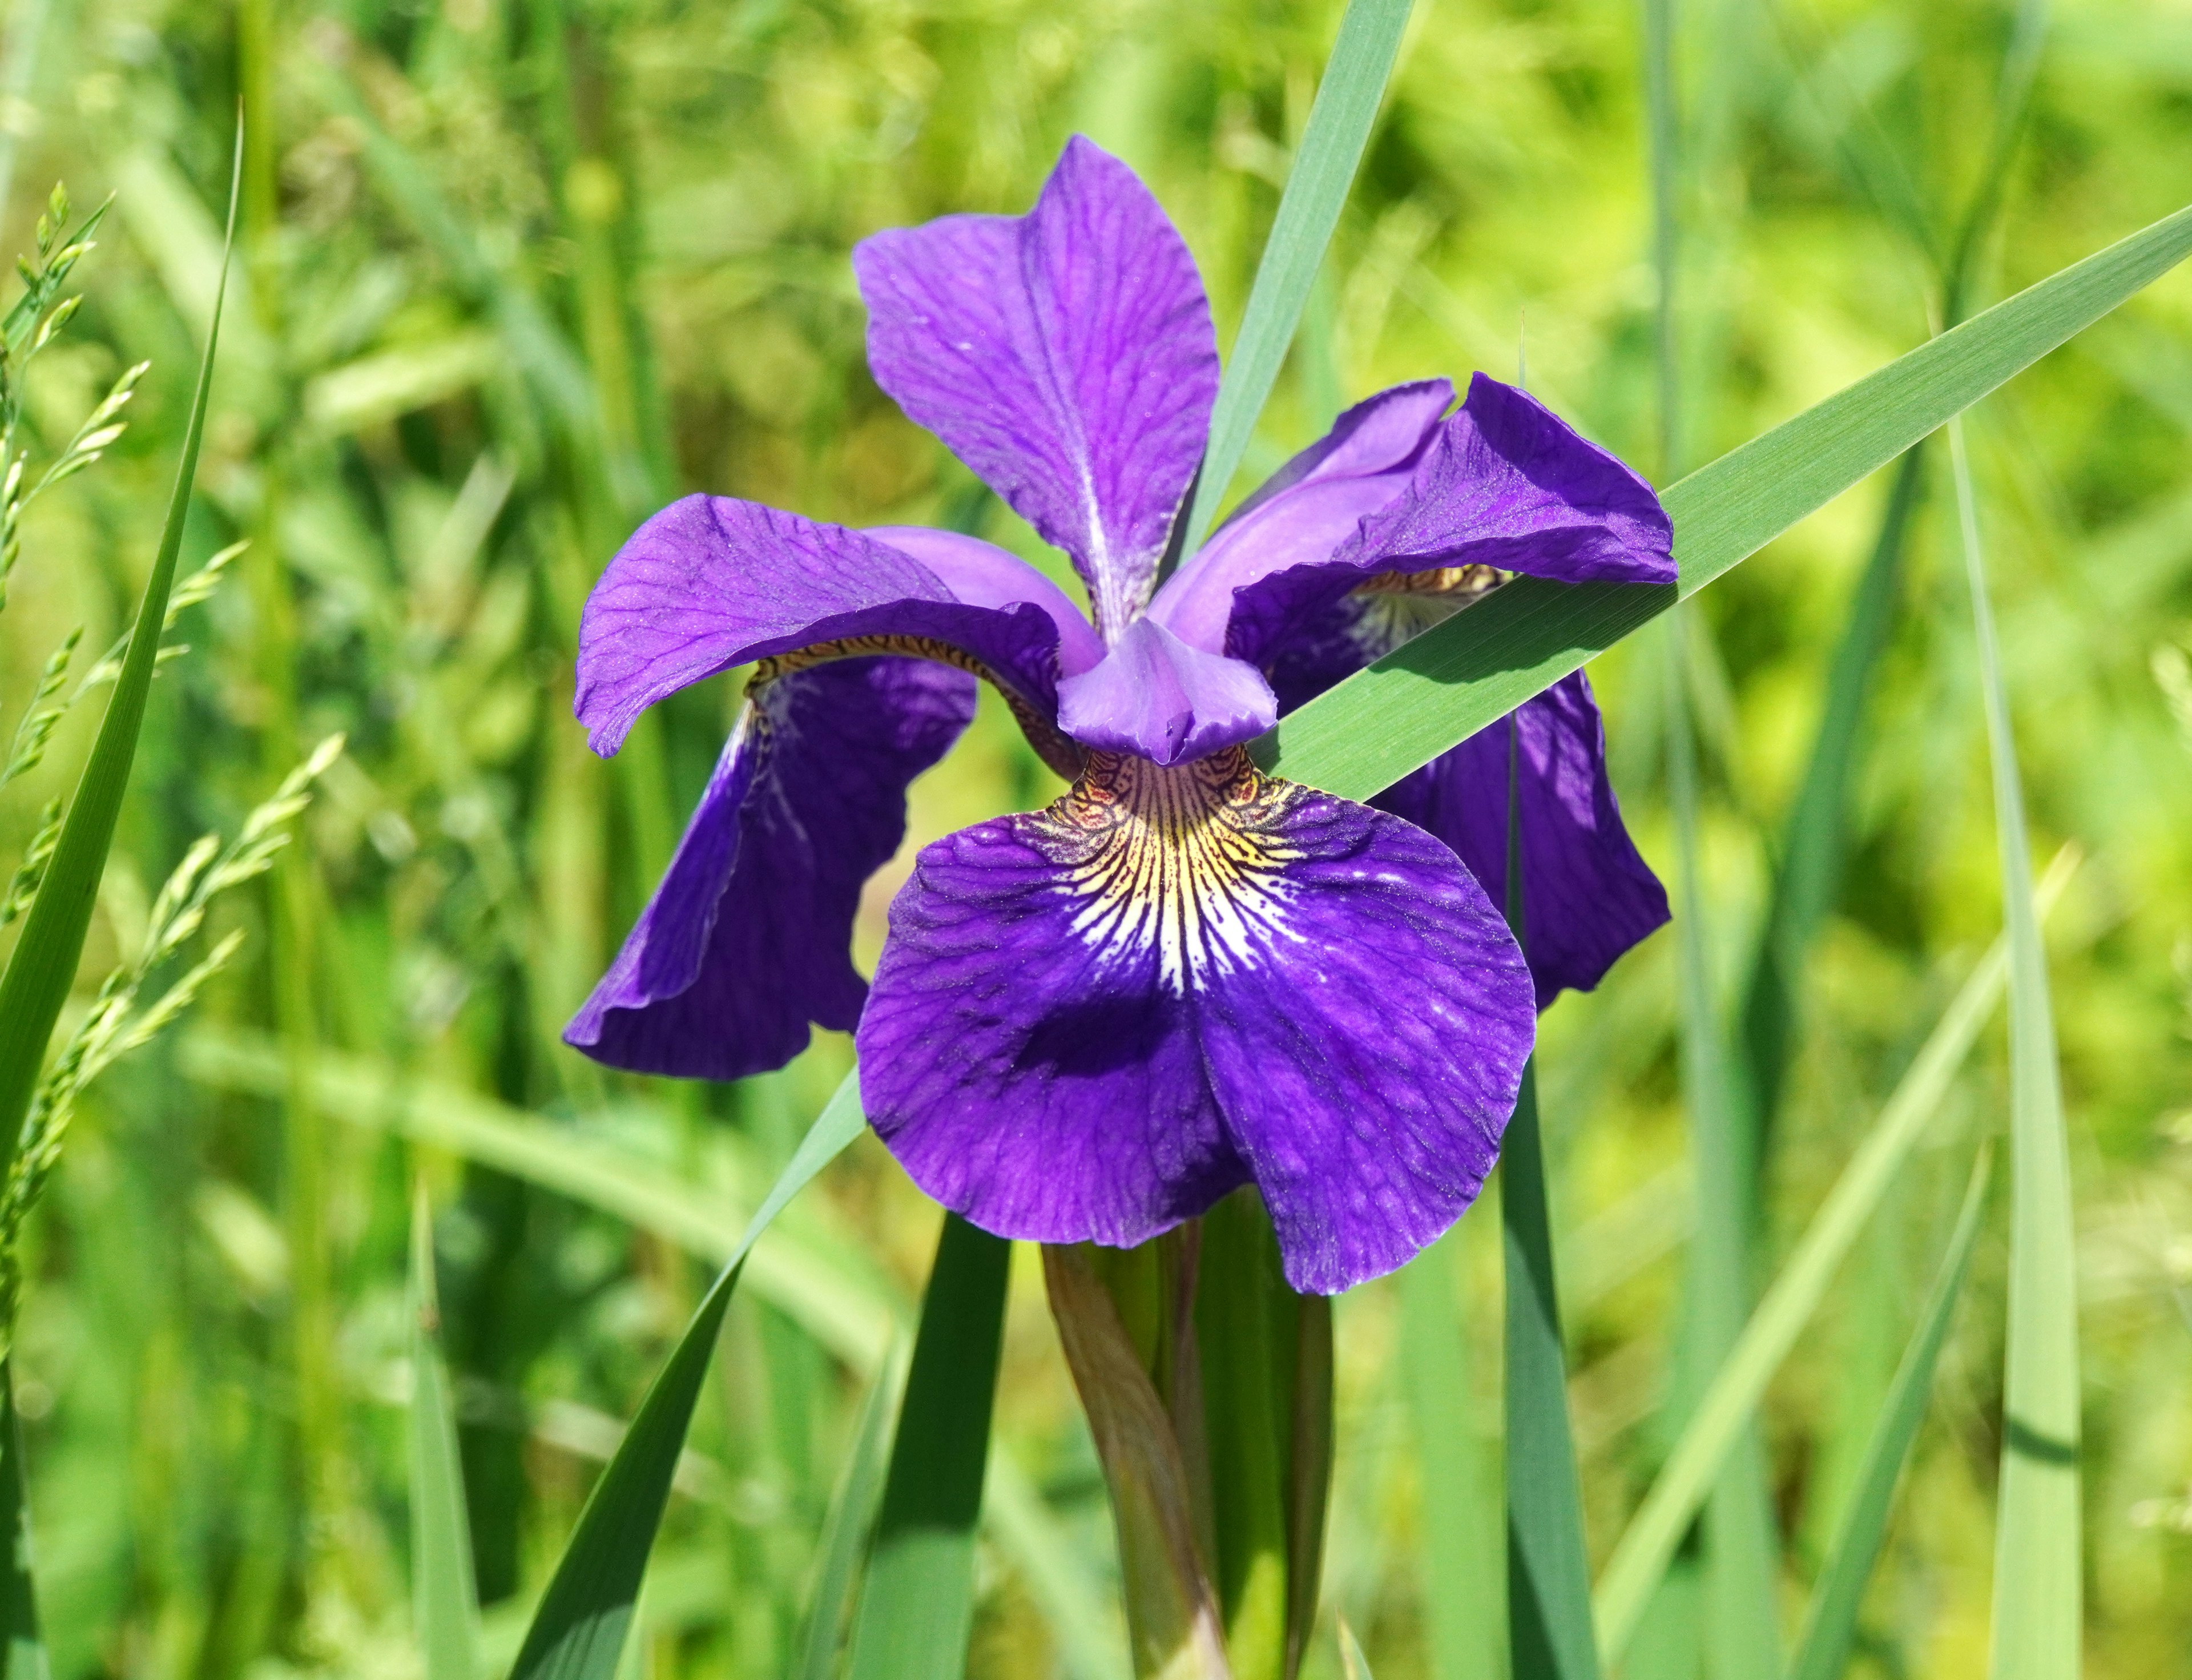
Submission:
[[[184,566],[252,548],[180,632],[85,958],[96,983],[182,849],[327,730],[307,844],[215,928],[246,956],[85,1103],[31,1228],[18,1351],[55,1673],[416,1671],[403,1461],[406,1222],[438,1213],[478,1579],[506,1658],[712,1257],[850,1057],[820,1035],[739,1088],[605,1077],[557,1031],[651,886],[737,686],[662,706],[616,763],[570,719],[579,605],[686,489],[842,522],[973,513],[861,357],[846,252],[1019,211],[1070,132],[1186,232],[1221,342],[1335,4],[1278,0],[11,0],[7,248],[46,189],[114,193],[88,303],[28,386],[57,447],[149,357],[110,463],[37,502],[0,616],[0,724],[46,651],[99,647],[149,566],[213,305],[235,110],[241,263]],[[1659,483],[1927,336],[1986,169],[2006,7],[1697,0],[1677,11],[1675,461],[1655,401],[1640,15],[1418,0],[1385,121],[1252,452],[1482,366]],[[2054,18],[1984,303],[2172,211],[2192,11]],[[2172,276],[1971,423],[2052,923],[2080,1206],[2093,1676],[2192,1676],[2192,281]],[[1971,605],[1927,474],[1870,684],[1837,915],[1804,980],[1767,1263],[1802,1228],[1999,926]],[[1681,682],[1705,901],[1745,978],[1824,673],[1887,474],[1710,592]],[[1944,513],[1949,518],[1944,518]],[[1061,572],[1063,575],[1063,572]],[[1594,667],[1631,825],[1672,875],[1664,660]],[[13,869],[94,708],[0,814]],[[1048,798],[1002,706],[914,790],[864,961],[921,842]],[[4,934],[0,934],[4,937]],[[1662,934],[1545,1024],[1543,1112],[1600,1559],[1666,1448],[1692,1226]],[[1999,1026],[1843,1268],[1767,1408],[1789,1610],[1830,1533],[1968,1160]],[[1326,1601],[1381,1680],[1497,1673],[1497,1219],[1339,1305]],[[1999,1208],[1997,1208],[1999,1217]],[[815,1533],[938,1215],[859,1145],[732,1305],[642,1608],[636,1676],[791,1671]],[[1032,1252],[1017,1257],[971,1673],[1124,1676],[1103,1483]],[[1984,1665],[1999,1452],[1999,1228],[1868,1601],[1857,1671]],[[1425,1480],[1475,1487],[1425,1496]],[[1436,1544],[1434,1544],[1436,1542]],[[1473,1559],[1438,1568],[1438,1555]],[[1484,1658],[1434,1667],[1447,1619]],[[1447,1649],[1453,1649],[1449,1638]],[[1331,1634],[1311,1671],[1337,1671]]]

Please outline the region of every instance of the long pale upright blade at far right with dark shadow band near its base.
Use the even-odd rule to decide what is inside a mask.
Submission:
[[[2078,1252],[2071,1226],[2063,1070],[2047,952],[2032,901],[2025,796],[2010,695],[1995,647],[1986,555],[1964,428],[1949,428],[1971,614],[1995,770],[2001,908],[2010,941],[2010,1323],[2001,1380],[1995,1513],[1993,1680],[2071,1680],[2082,1621],[2078,1489]]]

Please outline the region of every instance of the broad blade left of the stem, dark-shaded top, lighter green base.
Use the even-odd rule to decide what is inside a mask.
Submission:
[[[945,1215],[853,1625],[853,1680],[958,1680],[1013,1246]]]

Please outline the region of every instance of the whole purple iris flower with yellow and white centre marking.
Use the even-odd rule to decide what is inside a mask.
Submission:
[[[1521,390],[1477,375],[1449,412],[1427,379],[1342,415],[1160,590],[1219,357],[1149,189],[1076,138],[1028,215],[879,232],[853,268],[877,382],[1072,557],[1092,614],[949,531],[723,496],[640,526],[581,627],[594,748],[754,678],[566,1037],[737,1079],[857,1029],[875,1130],[978,1226],[1138,1244],[1254,1182],[1293,1287],[1392,1270],[1477,1195],[1537,1009],[1666,897],[1580,673],[1381,809],[1265,776],[1245,741],[1502,575],[1670,581],[1657,498]],[[927,847],[861,983],[861,882],[978,678],[1072,790]],[[1528,963],[1497,908],[1510,741]]]

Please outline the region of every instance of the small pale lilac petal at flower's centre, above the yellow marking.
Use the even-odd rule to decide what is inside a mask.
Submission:
[[[1278,700],[1263,671],[1135,618],[1092,671],[1059,684],[1059,728],[1083,746],[1181,763],[1263,735]]]

